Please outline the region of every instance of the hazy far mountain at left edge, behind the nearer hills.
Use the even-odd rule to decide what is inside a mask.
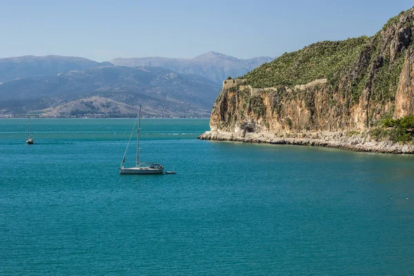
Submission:
[[[95,66],[112,66],[112,63],[99,63],[83,57],[7,57],[0,59],[0,82],[57,75],[70,70],[85,70]]]

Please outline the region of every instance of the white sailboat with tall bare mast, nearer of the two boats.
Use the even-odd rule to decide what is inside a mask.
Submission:
[[[132,134],[135,131],[135,125],[137,124],[137,120],[135,120],[134,127],[132,128],[132,132],[130,135],[130,139],[128,141],[128,145],[126,146],[126,150],[124,153],[124,157],[121,161],[121,166],[119,166],[119,174],[120,175],[159,175],[164,172],[164,167],[161,164],[145,164],[139,161],[139,132],[141,131],[141,105],[139,105],[139,114],[138,114],[138,130],[137,130],[137,164],[135,167],[132,168],[124,168],[123,164],[125,163],[126,152],[128,150],[128,146],[130,144]]]

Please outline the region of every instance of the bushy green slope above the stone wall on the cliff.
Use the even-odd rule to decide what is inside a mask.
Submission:
[[[294,86],[315,79],[337,81],[351,68],[368,41],[368,37],[359,37],[314,43],[302,50],[285,53],[275,61],[264,63],[243,78],[255,88]]]

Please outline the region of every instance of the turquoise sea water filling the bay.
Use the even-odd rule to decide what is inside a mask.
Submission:
[[[28,146],[0,119],[1,275],[413,275],[414,156],[143,119],[141,159],[177,175],[119,175],[133,123],[34,119]]]

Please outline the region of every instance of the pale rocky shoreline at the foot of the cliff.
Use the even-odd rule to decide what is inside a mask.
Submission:
[[[352,132],[307,132],[275,135],[268,133],[206,131],[200,135],[198,139],[240,141],[258,144],[322,146],[362,152],[383,152],[395,154],[414,153],[413,144],[398,144],[388,140],[375,141],[374,139],[371,139],[367,132],[358,134]]]

